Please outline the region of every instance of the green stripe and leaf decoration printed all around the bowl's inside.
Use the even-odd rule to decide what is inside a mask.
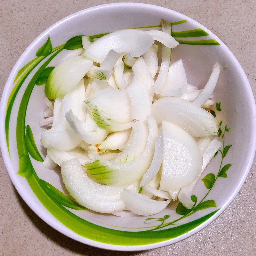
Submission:
[[[172,26],[183,24],[185,22],[187,22],[187,20],[180,20],[172,23]],[[140,27],[140,28],[154,28],[154,27],[160,27],[160,26],[161,25]],[[90,36],[90,40],[93,41],[93,39],[100,38],[106,34],[108,33]],[[189,37],[208,36],[208,34],[201,28],[173,32],[172,36],[176,37],[180,44],[219,45],[219,43],[213,39],[206,39],[206,40],[202,39],[197,41],[178,39],[182,37],[189,38]],[[36,143],[35,143],[34,136],[30,126],[25,124],[25,117],[26,117],[30,95],[35,85],[43,85],[46,83],[46,80],[49,74],[54,68],[54,67],[47,67],[51,62],[51,60],[53,60],[63,49],[74,50],[81,47],[82,47],[81,35],[72,37],[66,42],[66,44],[62,44],[55,48],[52,48],[51,39],[50,37],[48,37],[46,42],[37,50],[36,58],[31,60],[28,64],[26,64],[17,72],[17,75],[13,82],[14,87],[8,98],[7,108],[6,108],[6,118],[5,118],[5,135],[6,135],[6,143],[7,143],[9,155],[10,155],[9,124],[10,124],[10,116],[11,116],[14,101],[16,99],[16,96],[21,86],[24,84],[25,80],[27,79],[28,75],[34,70],[34,68],[36,68],[37,65],[39,65],[43,60],[45,60],[44,63],[41,65],[41,67],[36,71],[32,79],[29,81],[28,86],[20,101],[20,107],[19,107],[18,116],[17,116],[17,127],[16,127],[17,151],[20,159],[19,171],[17,173],[20,176],[25,177],[27,179],[29,186],[31,187],[31,189],[33,190],[37,198],[40,200],[40,202],[46,207],[46,209],[49,212],[53,214],[53,216],[55,216],[58,220],[60,220],[61,223],[63,223],[65,226],[67,226],[77,234],[96,240],[96,241],[105,242],[109,244],[138,245],[138,244],[141,244],[141,239],[144,239],[143,243],[150,244],[153,241],[160,242],[173,237],[177,237],[179,235],[184,234],[185,232],[188,232],[189,230],[192,230],[193,228],[196,228],[198,225],[200,225],[201,223],[209,219],[211,216],[213,216],[218,210],[215,210],[189,223],[181,224],[175,228],[169,228],[168,233],[166,233],[165,230],[159,230],[158,232],[151,232],[152,230],[129,232],[129,231],[121,231],[121,230],[100,227],[96,224],[93,224],[84,219],[81,219],[76,214],[70,212],[67,208],[65,208],[65,207],[68,207],[75,210],[85,210],[83,206],[81,206],[80,204],[77,204],[73,199],[63,194],[57,188],[54,188],[51,184],[49,184],[45,180],[39,179],[39,177],[37,176],[35,169],[33,168],[33,165],[31,163],[31,158],[40,162],[43,161],[43,158],[40,155],[38,149],[36,148]],[[228,129],[226,128],[225,128],[225,132],[227,132],[227,129]],[[225,132],[223,133],[221,132],[221,135],[223,135],[222,138],[224,137]],[[226,156],[227,151],[228,149],[226,149],[226,151],[224,149],[221,151],[222,158]],[[217,153],[218,152],[216,152],[216,154]],[[29,156],[31,156],[31,158]],[[224,177],[227,170],[228,169],[226,167],[226,169],[223,169],[222,172],[219,171],[219,177]],[[196,201],[197,201],[196,196],[192,196],[191,199],[194,200],[196,204]],[[186,209],[182,204],[179,204],[176,209],[176,212],[178,214],[181,214],[182,217],[180,217],[178,220],[188,217],[189,215],[193,214],[196,211],[206,209],[209,207],[216,207],[216,204],[213,200],[207,200],[200,203],[197,204],[197,206],[194,205],[194,207],[190,210]],[[153,230],[161,229],[169,225],[178,225],[178,223],[176,223],[178,220],[165,223],[169,218],[170,218],[170,215],[165,215],[163,218],[148,218],[147,220],[145,220],[145,224],[148,224],[148,221],[150,220],[159,221],[160,224],[156,226]],[[95,230],[97,230],[97,232],[95,232]],[[157,235],[153,235],[153,233],[157,233]],[[124,237],[126,237],[125,241],[124,241]]]

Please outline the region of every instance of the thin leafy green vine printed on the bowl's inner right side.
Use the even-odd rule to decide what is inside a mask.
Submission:
[[[220,102],[216,102],[216,110],[218,112],[221,111],[221,103]],[[211,109],[209,111],[216,118],[215,112],[213,110],[211,110]],[[160,229],[160,228],[164,228],[164,227],[173,225],[177,221],[185,219],[185,218],[187,218],[188,216],[194,214],[197,211],[201,211],[201,210],[204,210],[204,209],[207,209],[207,208],[210,208],[210,207],[217,207],[217,205],[216,205],[214,200],[206,200],[206,201],[204,201],[204,199],[208,196],[208,194],[210,193],[210,191],[213,188],[213,185],[215,184],[216,180],[219,177],[222,177],[222,178],[227,178],[228,177],[226,172],[228,171],[228,169],[232,165],[232,164],[226,164],[226,165],[224,165],[222,167],[223,160],[227,156],[228,150],[231,148],[231,145],[224,146],[224,135],[225,135],[226,132],[230,131],[230,128],[228,128],[228,126],[225,125],[224,130],[223,130],[222,121],[220,121],[220,122],[218,121],[218,124],[219,124],[218,137],[221,137],[221,139],[222,139],[222,149],[218,149],[217,152],[214,154],[214,157],[216,157],[218,155],[218,152],[220,152],[220,154],[221,154],[221,161],[220,161],[220,167],[219,167],[219,170],[218,170],[218,173],[217,173],[216,176],[213,173],[208,173],[206,176],[204,176],[204,178],[201,179],[204,182],[205,188],[208,189],[207,193],[205,194],[205,196],[202,198],[202,200],[198,204],[196,204],[197,203],[197,197],[195,195],[192,195],[191,196],[191,200],[194,202],[194,205],[193,205],[193,207],[191,209],[187,209],[181,203],[179,203],[177,208],[176,208],[176,213],[179,214],[179,215],[182,215],[182,217],[178,218],[177,220],[173,220],[171,222],[168,222],[168,223],[164,224],[165,220],[167,220],[170,217],[169,215],[165,215],[164,218],[148,218],[148,219],[146,219],[144,221],[145,224],[148,223],[147,222],[148,220],[157,220],[157,221],[161,221],[162,222],[159,226],[151,229],[150,231],[157,230],[157,229]]]

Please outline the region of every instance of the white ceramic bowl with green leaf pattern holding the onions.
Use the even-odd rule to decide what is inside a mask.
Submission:
[[[221,175],[212,188],[209,183],[206,188],[202,180],[197,182],[193,194],[197,197],[196,205],[200,201],[202,203],[197,206],[197,211],[190,212],[193,214],[188,214],[180,206],[176,209],[178,202],[172,203],[163,212],[150,216],[150,220],[143,216],[121,218],[72,209],[76,207],[64,195],[68,193],[59,170],[45,169],[36,152],[37,148],[41,156],[45,155],[40,144],[38,123],[43,119],[46,107],[44,85],[35,85],[36,79],[46,65],[55,66],[67,54],[72,55],[72,50],[63,50],[63,44],[74,36],[159,25],[161,19],[172,23],[173,36],[186,36],[178,38],[180,45],[173,50],[172,61],[180,58],[183,60],[190,84],[203,87],[215,62],[224,67],[214,92],[215,100],[221,102],[222,110],[213,110],[218,120],[222,121],[223,132],[226,124],[230,128],[225,133],[224,146],[232,147],[224,157],[221,168],[219,153],[207,166],[202,178],[208,173],[213,173],[216,178],[222,167],[226,166],[226,169],[219,172]],[[175,23],[180,20],[187,22]],[[177,31],[186,32],[175,33]],[[37,51],[48,36],[53,50],[48,41],[47,51],[42,48]],[[81,41],[79,37],[76,39],[78,41],[71,44],[69,41],[65,48],[79,47]],[[39,56],[36,57],[36,54]],[[34,62],[20,72],[21,78],[14,82],[18,71],[31,60]],[[48,64],[49,60],[51,62]],[[39,80],[42,78],[37,80],[37,84]],[[178,12],[154,5],[106,4],[76,12],[60,20],[38,36],[21,55],[7,80],[1,100],[1,149],[9,175],[20,196],[53,228],[77,241],[96,247],[124,251],[145,250],[172,244],[195,234],[226,209],[244,183],[252,164],[255,152],[255,114],[255,101],[243,69],[227,46],[207,28]],[[29,133],[28,127],[25,130],[27,125],[33,135]],[[227,164],[232,166],[228,169],[230,165]],[[20,175],[17,174],[18,170]],[[156,227],[158,229],[150,231]]]

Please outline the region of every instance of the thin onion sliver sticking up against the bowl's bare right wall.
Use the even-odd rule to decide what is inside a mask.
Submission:
[[[212,74],[207,84],[204,86],[204,89],[202,90],[200,95],[193,102],[194,105],[201,107],[211,97],[212,92],[214,91],[215,86],[218,82],[219,75],[220,75],[220,65],[217,62],[212,68]]]

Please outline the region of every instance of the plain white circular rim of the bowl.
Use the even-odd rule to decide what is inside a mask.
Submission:
[[[5,128],[4,125],[1,125],[0,127],[0,147],[1,147],[1,151],[2,151],[2,155],[3,155],[3,159],[4,159],[4,164],[6,166],[6,169],[8,171],[8,174],[12,180],[13,185],[15,186],[16,190],[18,191],[18,193],[20,194],[20,196],[22,197],[22,199],[26,202],[26,204],[30,207],[30,209],[35,212],[42,220],[44,220],[48,225],[50,225],[52,228],[56,229],[57,231],[59,231],[60,233],[62,233],[63,235],[66,235],[78,242],[84,243],[84,244],[88,244],[94,247],[98,247],[98,248],[102,248],[102,249],[108,249],[108,250],[116,250],[116,251],[141,251],[141,250],[148,250],[148,249],[153,249],[153,248],[159,248],[162,246],[166,246],[166,245],[170,245],[173,243],[176,243],[178,241],[181,241],[189,236],[194,235],[195,233],[197,233],[199,230],[203,229],[204,227],[206,227],[207,225],[209,225],[213,220],[215,220],[227,207],[228,205],[233,201],[233,199],[236,197],[236,195],[238,194],[239,190],[241,189],[242,185],[244,184],[244,181],[248,175],[248,172],[250,171],[253,159],[254,159],[254,154],[255,154],[255,150],[256,150],[256,119],[252,118],[253,116],[256,115],[256,105],[255,105],[255,100],[254,100],[254,96],[252,93],[252,89],[251,86],[249,84],[249,81],[244,73],[243,68],[241,67],[241,65],[239,64],[238,60],[236,59],[236,57],[234,56],[234,54],[228,49],[228,47],[216,36],[214,35],[209,29],[205,28],[203,25],[201,25],[200,23],[198,23],[197,21],[189,18],[188,16],[185,16],[184,14],[181,14],[179,12],[173,11],[171,9],[165,8],[165,7],[161,7],[161,6],[157,6],[157,5],[153,5],[153,4],[142,4],[142,3],[112,3],[112,4],[102,4],[102,5],[97,5],[97,6],[93,6],[90,8],[86,8],[84,10],[75,12],[73,14],[68,15],[67,17],[57,21],[55,24],[53,24],[52,26],[50,26],[49,28],[47,28],[46,30],[44,30],[44,32],[42,32],[39,36],[36,37],[35,40],[33,40],[33,42],[31,44],[29,44],[29,46],[26,48],[26,50],[21,54],[20,58],[17,60],[17,62],[15,63],[14,67],[12,68],[12,71],[10,72],[10,75],[8,76],[8,79],[6,81],[6,84],[4,86],[4,90],[2,93],[2,97],[1,97],[1,109],[0,109],[0,122],[4,123],[5,120],[5,106],[7,103],[7,99],[8,99],[8,89],[9,87],[12,85],[11,81],[13,80],[16,71],[20,65],[20,63],[22,62],[22,60],[24,58],[27,57],[28,52],[33,49],[33,47],[45,36],[47,35],[52,29],[58,27],[60,24],[76,17],[77,15],[81,15],[84,14],[86,12],[90,12],[92,10],[97,10],[97,9],[103,9],[103,8],[111,8],[112,6],[128,6],[128,7],[134,7],[134,6],[140,6],[140,7],[145,7],[145,8],[151,8],[154,10],[159,10],[159,11],[167,11],[170,13],[174,13],[176,15],[179,15],[179,17],[181,19],[186,19],[188,21],[190,21],[193,24],[196,24],[197,26],[200,26],[200,28],[203,28],[209,35],[212,36],[212,38],[214,38],[215,40],[217,40],[220,45],[223,47],[223,50],[227,53],[228,57],[233,60],[233,63],[236,65],[236,67],[239,70],[239,73],[243,79],[243,84],[244,84],[244,90],[247,91],[249,98],[248,98],[248,104],[251,106],[251,123],[252,123],[252,127],[251,130],[255,131],[252,133],[252,138],[251,138],[251,143],[248,147],[248,156],[247,156],[247,161],[245,161],[244,163],[244,172],[243,172],[243,176],[242,179],[240,180],[238,186],[234,189],[233,194],[228,198],[228,200],[226,201],[226,203],[220,208],[220,210],[218,212],[216,212],[211,218],[209,218],[208,220],[206,220],[204,223],[202,223],[201,225],[197,226],[196,228],[192,229],[191,231],[189,231],[187,234],[183,234],[182,236],[184,237],[175,237],[172,239],[168,239],[166,241],[163,242],[158,242],[158,243],[154,243],[154,244],[146,244],[146,245],[115,245],[115,244],[106,244],[106,243],[102,243],[102,242],[97,242],[91,239],[88,239],[86,237],[82,237],[81,239],[78,239],[77,237],[72,236],[72,233],[74,233],[73,231],[69,230],[67,227],[65,228],[61,228],[59,225],[57,225],[58,220],[56,220],[53,216],[53,218],[46,218],[46,216],[44,216],[39,209],[37,209],[37,202],[34,202],[34,199],[31,199],[22,189],[22,187],[20,186],[19,182],[18,182],[18,178],[15,177],[14,174],[16,174],[15,172],[13,172],[13,168],[12,168],[12,162],[9,158],[9,153],[8,153],[8,149],[7,149],[7,145],[6,145],[6,139],[5,139]],[[57,221],[57,222],[56,222]],[[68,232],[68,229],[70,232]]]

